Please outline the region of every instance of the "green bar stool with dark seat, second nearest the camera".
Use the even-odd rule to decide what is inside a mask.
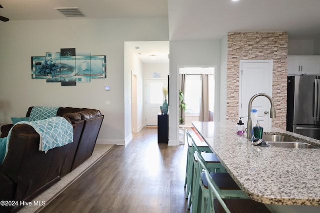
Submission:
[[[248,197],[240,190],[237,184],[233,181],[228,173],[212,173],[206,166],[202,155],[195,152],[194,156],[197,161],[194,165],[194,188],[191,192],[192,195],[192,213],[207,213],[207,201],[209,198],[209,191],[207,181],[203,170],[207,170],[211,179],[217,189],[222,191],[227,198],[248,199]]]

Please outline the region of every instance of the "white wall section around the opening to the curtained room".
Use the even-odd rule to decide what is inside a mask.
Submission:
[[[179,66],[216,65],[220,70],[219,40],[170,41],[169,142],[179,144],[178,134],[178,74]],[[218,112],[217,112],[218,113]]]

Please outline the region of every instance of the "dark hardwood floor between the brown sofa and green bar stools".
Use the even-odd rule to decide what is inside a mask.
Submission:
[[[114,146],[41,213],[186,213],[186,145],[157,143],[143,128]]]

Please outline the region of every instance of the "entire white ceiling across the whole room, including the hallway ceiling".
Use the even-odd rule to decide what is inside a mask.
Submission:
[[[0,0],[0,4],[0,15],[10,19],[0,24],[68,19],[54,7],[78,7],[86,15],[78,19],[168,17],[169,40],[220,39],[227,32],[244,31],[287,31],[289,38],[320,39],[320,0]]]

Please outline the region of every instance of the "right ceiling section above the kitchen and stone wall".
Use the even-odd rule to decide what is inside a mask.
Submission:
[[[320,38],[320,0],[168,0],[168,8],[170,40],[249,31]]]

